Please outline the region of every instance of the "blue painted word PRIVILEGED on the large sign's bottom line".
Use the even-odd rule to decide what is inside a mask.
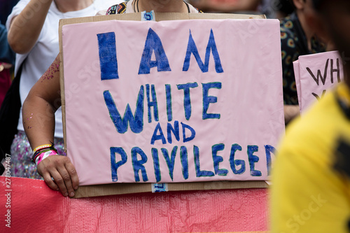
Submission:
[[[275,153],[275,148],[273,146],[265,145],[265,156],[266,156],[266,167],[267,174],[270,174],[271,169],[271,154]],[[174,181],[174,168],[175,160],[181,160],[181,170],[182,176],[184,180],[189,178],[189,169],[188,164],[189,160],[194,160],[195,164],[195,176],[198,177],[212,177],[212,176],[228,176],[230,170],[233,174],[241,175],[245,172],[250,173],[251,176],[262,176],[262,172],[255,169],[255,163],[259,161],[259,157],[254,155],[254,153],[258,152],[259,147],[255,145],[248,145],[246,148],[246,155],[248,157],[248,165],[246,165],[245,160],[238,160],[235,158],[237,151],[241,152],[242,147],[235,143],[232,144],[230,148],[230,152],[225,151],[225,144],[218,143],[214,146],[211,146],[211,157],[213,159],[213,169],[214,171],[202,170],[200,168],[200,148],[198,146],[193,145],[193,153],[189,153],[188,147],[186,146],[174,146],[169,153],[167,148],[152,148],[151,156],[146,155],[144,150],[139,147],[134,147],[131,150],[131,162],[132,167],[134,169],[134,180],[135,182],[139,182],[141,172],[141,176],[144,182],[148,181],[148,175],[146,171],[145,164],[148,162],[148,157],[152,157],[153,159],[153,168],[154,174],[157,182],[162,182],[162,175],[160,169],[160,160],[165,160],[167,163],[167,169],[169,170],[169,178]],[[121,147],[111,147],[111,173],[112,173],[112,181],[118,181],[118,169],[122,167],[124,164],[128,162],[128,156],[125,152],[124,148]],[[229,153],[229,162],[230,168],[228,167],[220,167],[221,162],[224,162],[223,156],[219,155],[219,153]],[[120,160],[118,159],[120,157]],[[130,157],[130,156],[129,156]],[[140,157],[140,159],[139,159]],[[205,157],[205,156],[204,156]],[[248,167],[248,169],[246,169]],[[163,168],[164,169],[164,168]],[[176,168],[179,169],[179,168]],[[248,171],[246,171],[248,170]],[[166,178],[167,179],[167,178]]]

